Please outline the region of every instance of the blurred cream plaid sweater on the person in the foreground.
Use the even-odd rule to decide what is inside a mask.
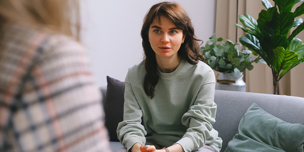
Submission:
[[[4,31],[0,151],[110,151],[84,47],[26,26]]]

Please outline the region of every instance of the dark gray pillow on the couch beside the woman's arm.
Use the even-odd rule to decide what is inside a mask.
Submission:
[[[123,121],[123,103],[125,82],[107,76],[107,94],[104,101],[105,126],[109,131],[110,141],[119,141],[117,138],[118,123]]]

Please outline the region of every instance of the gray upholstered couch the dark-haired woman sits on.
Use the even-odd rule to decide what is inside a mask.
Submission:
[[[105,101],[107,87],[100,88]],[[223,139],[221,151],[238,131],[240,119],[253,103],[271,115],[289,123],[304,124],[304,98],[250,92],[216,90],[214,102],[217,104],[216,123],[212,126]],[[119,142],[110,142],[112,151],[122,148]]]

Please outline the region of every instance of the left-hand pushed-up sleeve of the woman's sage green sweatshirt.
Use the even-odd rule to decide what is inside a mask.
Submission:
[[[125,80],[123,121],[119,123],[117,127],[118,139],[123,146],[127,148],[127,151],[129,151],[135,143],[144,145],[146,143],[145,135],[147,134],[144,126],[141,124],[143,113],[134,95],[129,72],[130,71],[128,71]]]

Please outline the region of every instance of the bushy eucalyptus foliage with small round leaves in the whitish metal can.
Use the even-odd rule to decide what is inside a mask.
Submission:
[[[259,62],[260,57],[248,49],[239,50],[240,43],[233,43],[226,40],[223,44],[216,44],[223,41],[223,38],[216,38],[213,34],[206,42],[205,47],[200,51],[206,59],[206,63],[215,71],[231,73],[237,77],[246,68],[253,69],[253,62]]]

